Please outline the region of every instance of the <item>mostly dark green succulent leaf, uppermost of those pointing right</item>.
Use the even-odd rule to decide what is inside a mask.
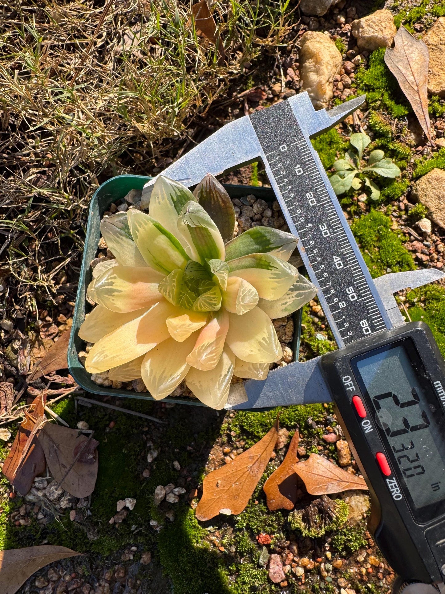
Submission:
[[[281,260],[289,260],[298,239],[291,233],[271,227],[253,227],[225,244],[225,261],[235,260],[249,254],[273,254]]]

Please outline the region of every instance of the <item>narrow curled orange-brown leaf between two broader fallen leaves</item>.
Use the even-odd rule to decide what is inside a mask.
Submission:
[[[285,459],[275,472],[269,476],[263,491],[266,494],[268,508],[275,510],[291,510],[297,501],[298,476],[295,474],[293,465],[297,458],[297,448],[300,437],[298,431],[292,438]]]

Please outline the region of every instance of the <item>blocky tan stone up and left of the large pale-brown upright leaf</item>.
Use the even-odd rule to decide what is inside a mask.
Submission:
[[[373,52],[374,49],[392,45],[397,29],[392,12],[376,10],[367,17],[352,21],[351,32],[354,37],[357,37],[359,49]]]

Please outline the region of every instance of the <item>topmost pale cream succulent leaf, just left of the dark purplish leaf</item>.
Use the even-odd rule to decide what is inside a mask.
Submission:
[[[177,219],[185,204],[190,200],[196,201],[196,198],[188,188],[173,179],[160,175],[151,191],[148,212],[167,231],[177,236]]]

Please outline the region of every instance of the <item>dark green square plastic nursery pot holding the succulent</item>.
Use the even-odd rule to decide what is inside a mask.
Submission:
[[[90,203],[90,212],[88,214],[87,236],[85,238],[84,257],[82,258],[82,267],[80,271],[79,286],[77,290],[76,305],[74,308],[71,336],[68,346],[68,368],[74,380],[87,392],[93,394],[102,394],[103,396],[119,396],[120,398],[138,398],[141,400],[154,400],[148,392],[136,392],[135,390],[115,390],[97,386],[91,381],[89,374],[78,358],[78,353],[84,350],[85,343],[78,336],[79,328],[85,319],[85,314],[90,311],[90,305],[85,301],[88,284],[91,282],[92,269],[91,260],[96,258],[97,244],[100,239],[100,220],[103,213],[108,210],[112,202],[122,200],[132,189],[142,189],[151,178],[142,175],[119,175],[104,182],[94,192]],[[274,192],[271,188],[260,188],[253,186],[241,186],[225,184],[225,189],[231,198],[241,198],[249,194],[255,194],[257,198],[262,198],[267,203],[272,204],[275,200]],[[298,356],[300,350],[300,332],[301,332],[301,309],[294,313],[294,340],[293,353],[294,359]],[[206,406],[198,399],[188,397],[167,396],[163,402],[176,402],[192,406]]]

